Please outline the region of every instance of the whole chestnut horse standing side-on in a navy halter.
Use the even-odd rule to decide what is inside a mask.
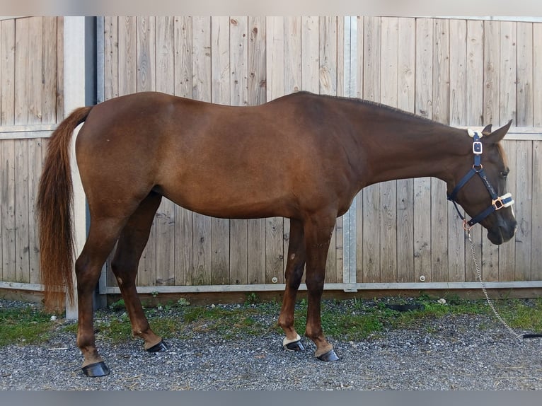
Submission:
[[[278,323],[284,347],[304,349],[294,329],[294,303],[306,266],[305,334],[323,361],[338,359],[320,320],[330,236],[335,219],[363,187],[436,177],[446,182],[454,204],[478,217],[466,227],[480,222],[495,244],[516,229],[499,143],[510,123],[473,133],[377,103],[306,92],[254,107],[153,92],[125,95],[75,110],[49,141],[38,196],[40,272],[49,308],[62,306],[64,290],[74,296],[69,151],[72,133],[83,122],[76,159],[91,223],[75,272],[77,344],[87,376],[109,373],[96,349],[93,291],[115,243],[111,267],[133,334],[151,352],[166,349],[149,327],[135,286],[163,196],[207,216],[291,219]]]

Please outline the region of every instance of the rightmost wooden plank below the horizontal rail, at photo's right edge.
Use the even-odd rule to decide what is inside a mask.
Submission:
[[[542,141],[533,141],[533,179],[542,179]],[[531,280],[542,280],[542,182],[533,182]]]

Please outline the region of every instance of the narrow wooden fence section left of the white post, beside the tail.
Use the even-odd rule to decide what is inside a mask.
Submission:
[[[62,26],[0,20],[0,286],[40,289],[35,197],[47,137],[64,116]]]

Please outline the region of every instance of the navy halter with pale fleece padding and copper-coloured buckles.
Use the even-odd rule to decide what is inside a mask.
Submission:
[[[480,138],[483,137],[482,133],[468,129],[468,135],[473,137],[474,165],[471,170],[469,170],[468,173],[463,176],[463,178],[459,181],[456,187],[454,187],[454,190],[452,190],[451,194],[448,195],[448,200],[454,203],[457,214],[459,214],[459,217],[461,218],[461,220],[463,220],[463,228],[465,228],[466,231],[470,230],[475,224],[480,223],[480,221],[483,221],[483,219],[492,214],[493,211],[497,211],[499,209],[502,209],[503,207],[509,207],[514,204],[514,199],[512,199],[511,193],[497,196],[495,189],[493,189],[488,180],[488,177],[485,175],[485,171],[481,163],[483,144],[480,141]],[[480,176],[480,179],[482,179],[486,189],[488,189],[488,192],[490,192],[492,202],[490,207],[482,211],[480,214],[478,214],[478,216],[474,216],[472,219],[467,221],[463,214],[461,214],[461,211],[457,206],[456,198],[461,187],[465,186],[466,183],[471,180],[474,175]]]

